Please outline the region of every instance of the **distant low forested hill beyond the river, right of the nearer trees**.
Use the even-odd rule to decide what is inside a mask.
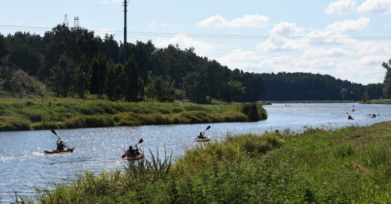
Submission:
[[[312,73],[262,73],[266,92],[262,100],[368,100],[383,96],[382,83],[352,83]]]

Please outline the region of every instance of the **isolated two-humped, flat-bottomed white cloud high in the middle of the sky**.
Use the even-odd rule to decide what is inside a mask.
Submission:
[[[264,28],[268,26],[269,18],[263,15],[244,15],[231,21],[221,15],[213,15],[197,23],[197,27],[255,27]]]

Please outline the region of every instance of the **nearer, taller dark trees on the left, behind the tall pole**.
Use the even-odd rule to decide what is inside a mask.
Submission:
[[[120,57],[124,47],[113,35],[102,39],[88,29],[64,24],[44,36],[0,34],[2,66],[16,64],[60,97],[89,93],[110,100],[177,98],[210,103],[212,98],[257,101],[265,91],[259,73],[232,71],[216,60],[198,56],[193,47],[181,50],[169,44],[157,48],[150,40],[136,41],[127,44],[125,63]]]

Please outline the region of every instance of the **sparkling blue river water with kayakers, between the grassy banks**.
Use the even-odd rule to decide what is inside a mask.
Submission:
[[[268,118],[258,122],[57,129],[66,144],[77,146],[72,153],[43,153],[45,149],[56,148],[57,136],[50,130],[0,132],[0,203],[15,202],[15,192],[34,196],[35,187],[51,189],[55,183],[70,182],[76,173],[85,170],[98,174],[102,170],[122,168],[123,149],[136,144],[140,138],[144,140],[140,146],[146,150],[147,157],[149,148],[154,154],[158,149],[160,156],[166,150],[178,157],[187,148],[199,145],[193,140],[208,125],[211,128],[207,135],[220,141],[227,134],[275,129],[299,132],[307,127],[335,129],[391,120],[391,105],[384,104],[273,103],[264,108]],[[347,113],[354,120],[348,120]],[[371,118],[372,113],[378,116]]]

